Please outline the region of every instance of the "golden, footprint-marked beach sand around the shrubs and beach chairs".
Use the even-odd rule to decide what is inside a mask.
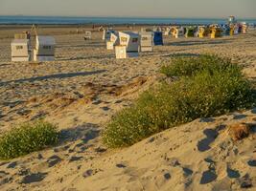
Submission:
[[[153,53],[117,60],[106,51],[102,32],[84,41],[76,28],[45,28],[38,33],[56,38],[56,61],[13,63],[13,33],[25,30],[0,28],[0,133],[44,118],[58,125],[61,142],[0,161],[0,190],[255,189],[255,135],[234,143],[226,128],[255,123],[254,110],[197,119],[119,150],[107,149],[100,133],[116,112],[162,77],[160,67],[174,57],[228,56],[254,80],[256,31],[217,39],[167,36],[165,46]]]

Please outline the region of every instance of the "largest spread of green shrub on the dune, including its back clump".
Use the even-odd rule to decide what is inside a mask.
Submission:
[[[103,133],[107,146],[132,145],[198,117],[215,117],[253,105],[251,84],[228,59],[210,55],[179,58],[175,66],[166,66],[162,72],[180,77],[171,85],[162,82],[143,93],[113,117]]]

